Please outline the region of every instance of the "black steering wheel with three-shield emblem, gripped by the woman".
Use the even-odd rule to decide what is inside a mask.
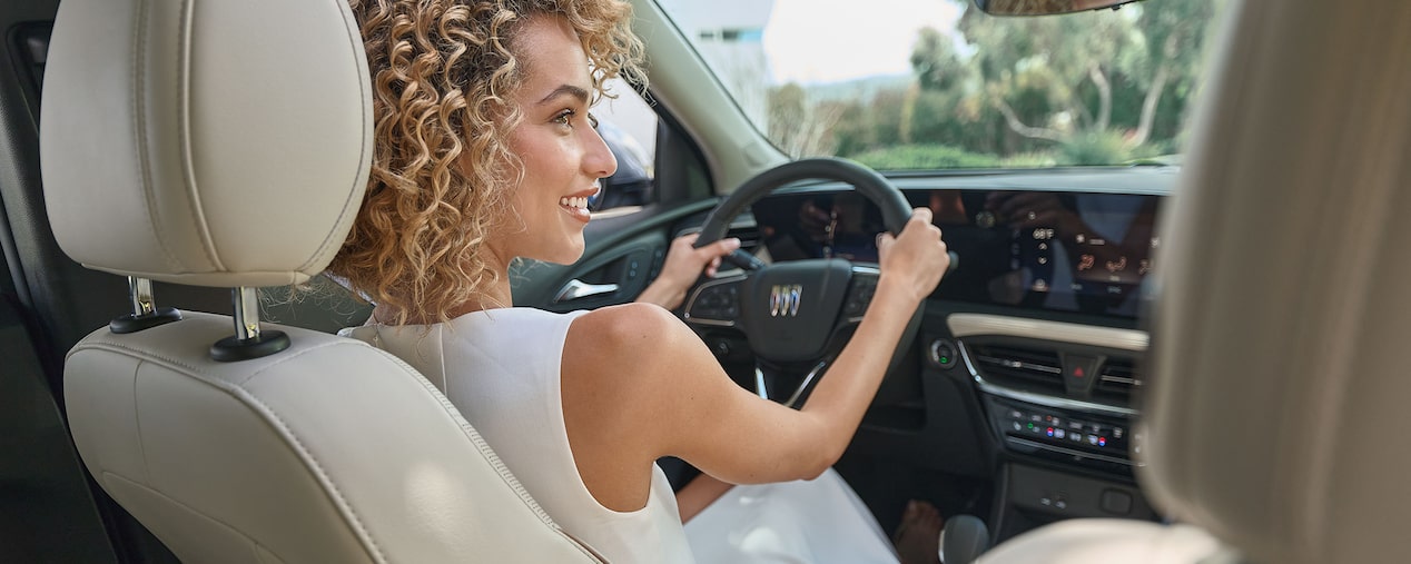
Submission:
[[[852,161],[811,158],[794,161],[746,180],[722,200],[701,227],[696,247],[725,237],[731,221],[749,204],[799,180],[837,180],[852,185],[882,210],[882,223],[900,234],[912,207],[886,178]],[[765,265],[745,251],[731,262],[742,274],[706,281],[687,293],[683,319],[697,327],[731,327],[745,334],[755,354],[755,385],[761,396],[796,405],[844,344],[838,336],[855,327],[872,302],[880,271],[842,258],[789,261]],[[916,337],[921,309],[902,337],[893,365]],[[790,396],[773,398],[766,369],[813,365]]]

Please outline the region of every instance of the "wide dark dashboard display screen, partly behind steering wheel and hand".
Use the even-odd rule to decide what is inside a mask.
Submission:
[[[1022,192],[910,192],[930,207],[959,257],[935,298],[1134,317],[1154,268],[1158,196]],[[799,195],[755,206],[772,259],[878,259],[876,206],[855,192]]]

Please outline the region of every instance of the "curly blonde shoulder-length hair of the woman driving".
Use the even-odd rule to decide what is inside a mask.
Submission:
[[[444,321],[499,281],[481,255],[523,173],[508,135],[522,116],[512,49],[528,18],[563,17],[583,42],[594,100],[645,85],[642,42],[619,0],[349,0],[373,78],[373,173],[329,271],[396,312]],[[485,307],[485,303],[478,303]],[[387,321],[387,320],[384,320]]]

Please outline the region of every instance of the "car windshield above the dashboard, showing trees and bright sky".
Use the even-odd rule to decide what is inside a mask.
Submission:
[[[780,151],[899,171],[1177,162],[1218,0],[659,3]]]

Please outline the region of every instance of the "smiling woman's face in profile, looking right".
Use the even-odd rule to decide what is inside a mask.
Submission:
[[[588,117],[588,58],[569,23],[532,17],[512,49],[525,72],[523,86],[509,96],[523,114],[509,133],[525,172],[509,197],[522,224],[511,219],[488,245],[505,261],[570,264],[583,255],[588,197],[600,178],[617,171],[617,159]]]

